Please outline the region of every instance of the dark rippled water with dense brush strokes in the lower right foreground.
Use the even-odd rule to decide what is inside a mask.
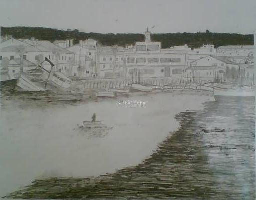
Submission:
[[[254,98],[218,98],[135,167],[98,178],[36,180],[9,198],[255,200]]]

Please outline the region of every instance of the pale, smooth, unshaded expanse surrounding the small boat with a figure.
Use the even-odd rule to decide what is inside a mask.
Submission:
[[[145,105],[120,106],[119,101]],[[206,101],[214,101],[213,96],[198,91],[134,94],[74,105],[8,101],[0,113],[0,196],[34,179],[99,176],[137,165],[178,128],[176,114],[203,109]],[[93,113],[113,127],[106,136],[88,138],[77,131]]]

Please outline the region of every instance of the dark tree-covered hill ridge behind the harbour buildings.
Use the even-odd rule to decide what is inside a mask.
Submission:
[[[120,45],[133,44],[135,41],[144,41],[144,35],[140,33],[85,33],[74,30],[58,30],[43,27],[1,27],[1,36],[12,35],[14,38],[30,38],[35,37],[39,40],[74,39],[74,44],[79,43],[81,39],[92,38],[98,40],[103,45]],[[221,45],[253,45],[253,34],[237,34],[237,33],[155,33],[151,35],[153,41],[162,41],[162,48],[169,48],[174,45],[188,44],[192,48],[200,47],[203,44],[214,44],[215,47]]]

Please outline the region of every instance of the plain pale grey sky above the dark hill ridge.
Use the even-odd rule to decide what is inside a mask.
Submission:
[[[248,34],[256,30],[256,0],[0,0],[0,26]]]

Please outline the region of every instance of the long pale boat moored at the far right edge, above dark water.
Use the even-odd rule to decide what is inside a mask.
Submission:
[[[239,87],[239,88],[220,88],[214,87],[214,96],[255,96],[255,89],[253,87]]]

